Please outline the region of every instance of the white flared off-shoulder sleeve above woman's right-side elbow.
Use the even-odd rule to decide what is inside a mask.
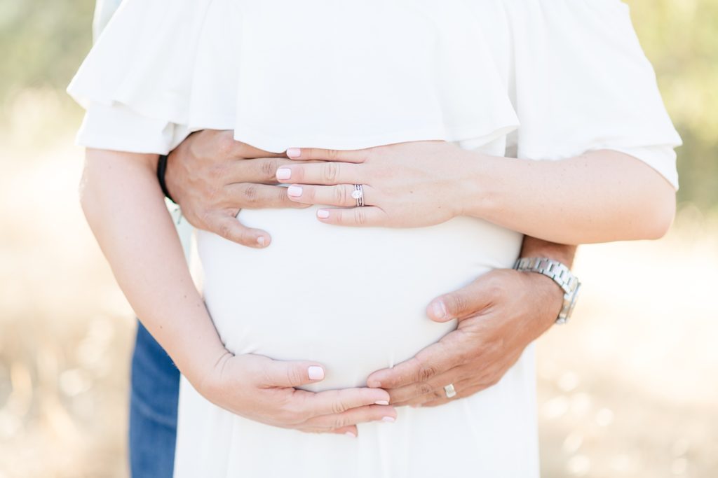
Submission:
[[[614,149],[678,187],[681,138],[628,6],[617,0],[505,2],[513,31],[518,156]]]

